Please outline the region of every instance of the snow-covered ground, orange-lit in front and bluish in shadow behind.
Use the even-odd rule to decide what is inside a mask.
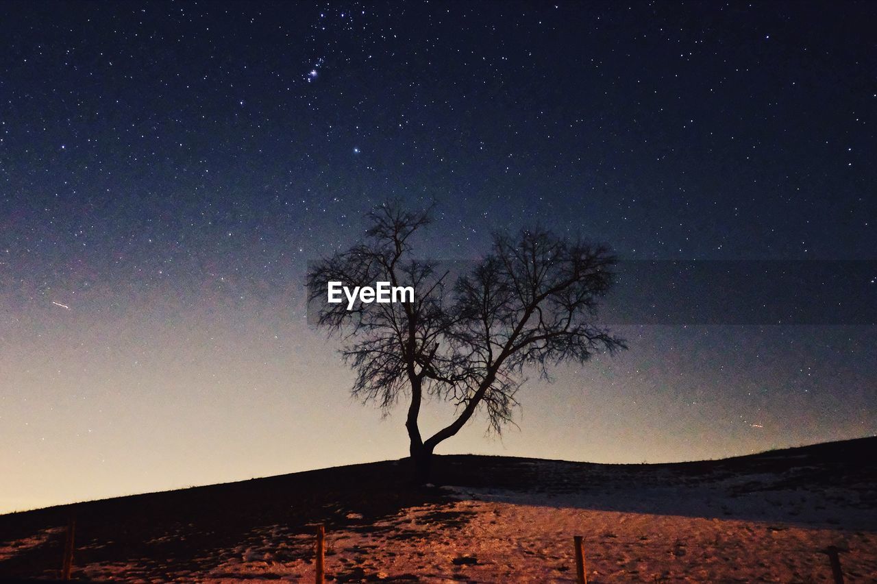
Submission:
[[[534,464],[563,476],[563,463]],[[843,493],[729,497],[741,481],[619,488],[605,479],[607,488],[597,490],[446,488],[447,502],[377,523],[358,523],[355,510],[339,508],[351,523],[327,534],[326,570],[335,581],[575,581],[573,536],[581,535],[590,582],[827,582],[829,545],[845,550],[847,581],[877,581],[877,534],[866,530],[873,510],[846,505]],[[725,517],[741,513],[753,518]],[[220,552],[208,573],[176,573],[175,580],[312,581],[313,541],[307,532],[267,526]],[[87,566],[85,573],[146,577],[137,566]]]

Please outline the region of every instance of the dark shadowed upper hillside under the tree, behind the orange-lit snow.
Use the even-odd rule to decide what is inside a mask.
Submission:
[[[289,538],[310,534],[313,523],[330,533],[367,531],[403,509],[439,509],[452,497],[479,501],[490,493],[531,506],[751,521],[765,517],[761,502],[770,494],[788,493],[797,507],[784,499],[768,509],[782,521],[877,531],[873,452],[877,438],[673,464],[447,455],[437,457],[434,476],[453,492],[409,487],[406,461],[392,460],[60,505],[0,516],[0,577],[51,577],[70,516],[75,566],[137,564],[140,576],[173,580],[207,573],[267,527],[282,526]],[[436,512],[427,523],[442,531],[466,521],[465,513]],[[850,521],[856,524],[839,524]],[[303,542],[279,561],[309,561]]]

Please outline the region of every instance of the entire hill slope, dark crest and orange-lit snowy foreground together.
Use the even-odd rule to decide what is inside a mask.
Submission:
[[[877,438],[659,465],[442,456],[0,516],[0,579],[57,578],[75,516],[79,580],[877,581]]]

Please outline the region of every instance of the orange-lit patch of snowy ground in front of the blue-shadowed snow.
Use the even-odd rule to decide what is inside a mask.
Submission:
[[[440,513],[469,520],[437,531],[431,517]],[[873,534],[830,529],[493,500],[406,509],[375,527],[329,534],[329,573],[342,581],[575,581],[570,534],[581,533],[591,582],[830,581],[819,550],[837,544],[852,549],[843,555],[848,581],[877,579]],[[278,540],[307,546],[312,538],[265,536],[230,551],[206,579],[312,580],[310,560],[277,559]]]

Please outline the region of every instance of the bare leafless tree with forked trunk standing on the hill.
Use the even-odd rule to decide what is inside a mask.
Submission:
[[[360,244],[321,260],[308,273],[317,322],[339,335],[341,353],[356,373],[352,393],[384,412],[407,401],[414,479],[429,478],[435,447],[478,411],[501,433],[512,421],[528,369],[550,379],[549,367],[614,353],[624,341],[595,324],[597,305],[613,280],[615,258],[548,231],[497,234],[492,249],[467,274],[446,281],[438,263],[418,260],[412,236],[428,212],[386,204],[370,215]],[[412,286],[411,303],[326,303],[329,281]],[[450,424],[428,438],[418,419],[427,397],[456,405]]]

